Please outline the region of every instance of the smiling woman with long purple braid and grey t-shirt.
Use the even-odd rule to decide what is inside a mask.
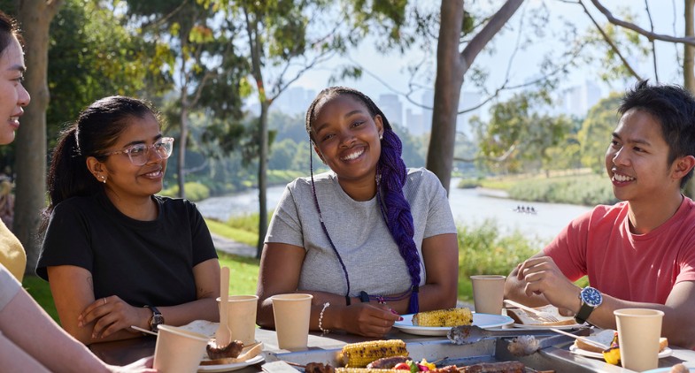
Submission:
[[[258,324],[270,297],[313,294],[311,329],[382,337],[399,314],[456,304],[458,243],[444,188],[406,169],[382,110],[351,88],[324,89],[306,112],[331,171],[285,189],[265,240]]]

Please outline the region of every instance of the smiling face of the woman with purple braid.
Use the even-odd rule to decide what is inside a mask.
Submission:
[[[374,117],[357,97],[329,96],[316,105],[312,123],[314,149],[336,172],[341,186],[351,182],[375,184],[381,156],[382,118]]]

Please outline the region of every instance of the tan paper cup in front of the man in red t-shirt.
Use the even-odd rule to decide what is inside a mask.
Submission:
[[[618,325],[622,368],[643,371],[659,365],[659,339],[664,313],[658,309],[622,308],[613,311]]]

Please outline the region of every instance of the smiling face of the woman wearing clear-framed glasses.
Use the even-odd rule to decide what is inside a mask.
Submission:
[[[153,115],[147,114],[144,118],[128,118],[127,128],[120,133],[118,140],[107,152],[123,150],[131,145],[152,145],[162,138],[159,124]],[[130,162],[126,153],[116,153],[107,156],[104,162],[98,162],[96,158],[88,160],[89,170],[100,182],[102,176],[106,183],[106,194],[114,200],[149,199],[152,194],[162,190],[162,181],[166,171],[166,159],[162,159],[155,151],[150,149],[146,164],[135,165]]]

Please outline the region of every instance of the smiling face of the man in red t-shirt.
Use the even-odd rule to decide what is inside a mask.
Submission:
[[[668,164],[668,150],[652,115],[636,108],[626,111],[606,150],[606,171],[615,197],[630,203],[680,197],[682,158]]]

